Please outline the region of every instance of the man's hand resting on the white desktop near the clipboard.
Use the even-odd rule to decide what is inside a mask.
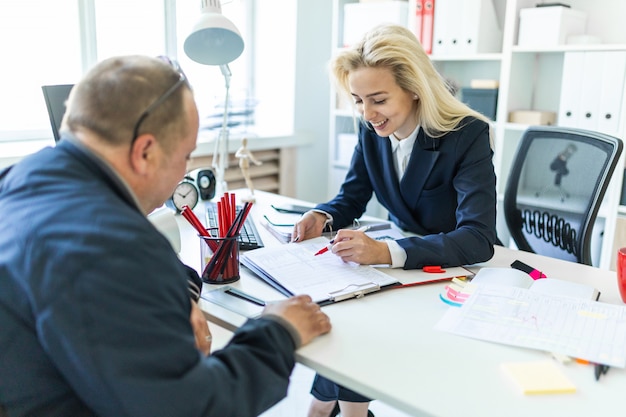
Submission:
[[[280,316],[290,323],[300,334],[303,346],[317,336],[328,333],[331,328],[328,316],[308,295],[298,295],[270,303],[263,309],[263,314]]]

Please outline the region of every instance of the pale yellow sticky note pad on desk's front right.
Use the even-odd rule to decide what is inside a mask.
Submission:
[[[576,386],[553,361],[508,362],[502,369],[524,394],[563,394],[576,392]]]

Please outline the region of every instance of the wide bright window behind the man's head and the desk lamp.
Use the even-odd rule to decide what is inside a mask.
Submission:
[[[253,134],[291,134],[296,2],[222,3],[223,14],[245,43],[243,54],[230,64],[231,134],[245,123],[255,124],[248,129]],[[183,50],[200,6],[200,0],[3,0],[0,142],[44,139],[52,144],[41,86],[75,83],[96,61],[121,54],[177,58],[194,88],[201,124],[221,126],[224,77],[218,67],[193,62]],[[254,108],[254,116],[235,126],[241,120],[234,113],[246,106]],[[203,130],[200,140],[216,132]]]

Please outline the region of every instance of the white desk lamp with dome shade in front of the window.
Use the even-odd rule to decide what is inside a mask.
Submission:
[[[227,191],[224,172],[228,168],[228,103],[231,72],[228,64],[243,52],[243,38],[237,27],[222,14],[220,0],[201,0],[202,14],[184,43],[185,54],[204,65],[219,65],[224,76],[226,97],[222,130],[215,141],[212,166],[220,193]],[[219,195],[219,194],[218,194]]]

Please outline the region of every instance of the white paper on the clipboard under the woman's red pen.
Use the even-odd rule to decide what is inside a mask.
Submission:
[[[369,265],[343,262],[330,251],[314,254],[328,245],[327,238],[265,247],[241,254],[244,265],[252,263],[293,294],[308,294],[316,301],[333,294],[366,291],[397,280]]]

